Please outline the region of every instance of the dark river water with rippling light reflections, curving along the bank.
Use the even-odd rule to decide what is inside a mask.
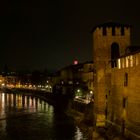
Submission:
[[[0,92],[0,140],[87,140],[73,119],[47,102]]]

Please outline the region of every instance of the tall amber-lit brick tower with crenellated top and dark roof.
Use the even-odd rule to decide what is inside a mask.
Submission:
[[[93,28],[93,58],[95,78],[95,122],[105,124],[106,100],[109,83],[108,68],[117,67],[116,58],[125,53],[130,45],[130,25],[108,22]]]

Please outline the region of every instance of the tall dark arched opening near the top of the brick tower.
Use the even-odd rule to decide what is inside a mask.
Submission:
[[[111,45],[111,67],[117,67],[117,58],[120,57],[119,45],[117,43],[113,43]]]

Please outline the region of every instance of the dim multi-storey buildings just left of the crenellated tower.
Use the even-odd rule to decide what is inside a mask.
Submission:
[[[93,72],[92,61],[69,65],[55,73],[53,87],[61,89],[62,94],[74,94],[76,89],[83,89],[83,92],[94,92]]]

